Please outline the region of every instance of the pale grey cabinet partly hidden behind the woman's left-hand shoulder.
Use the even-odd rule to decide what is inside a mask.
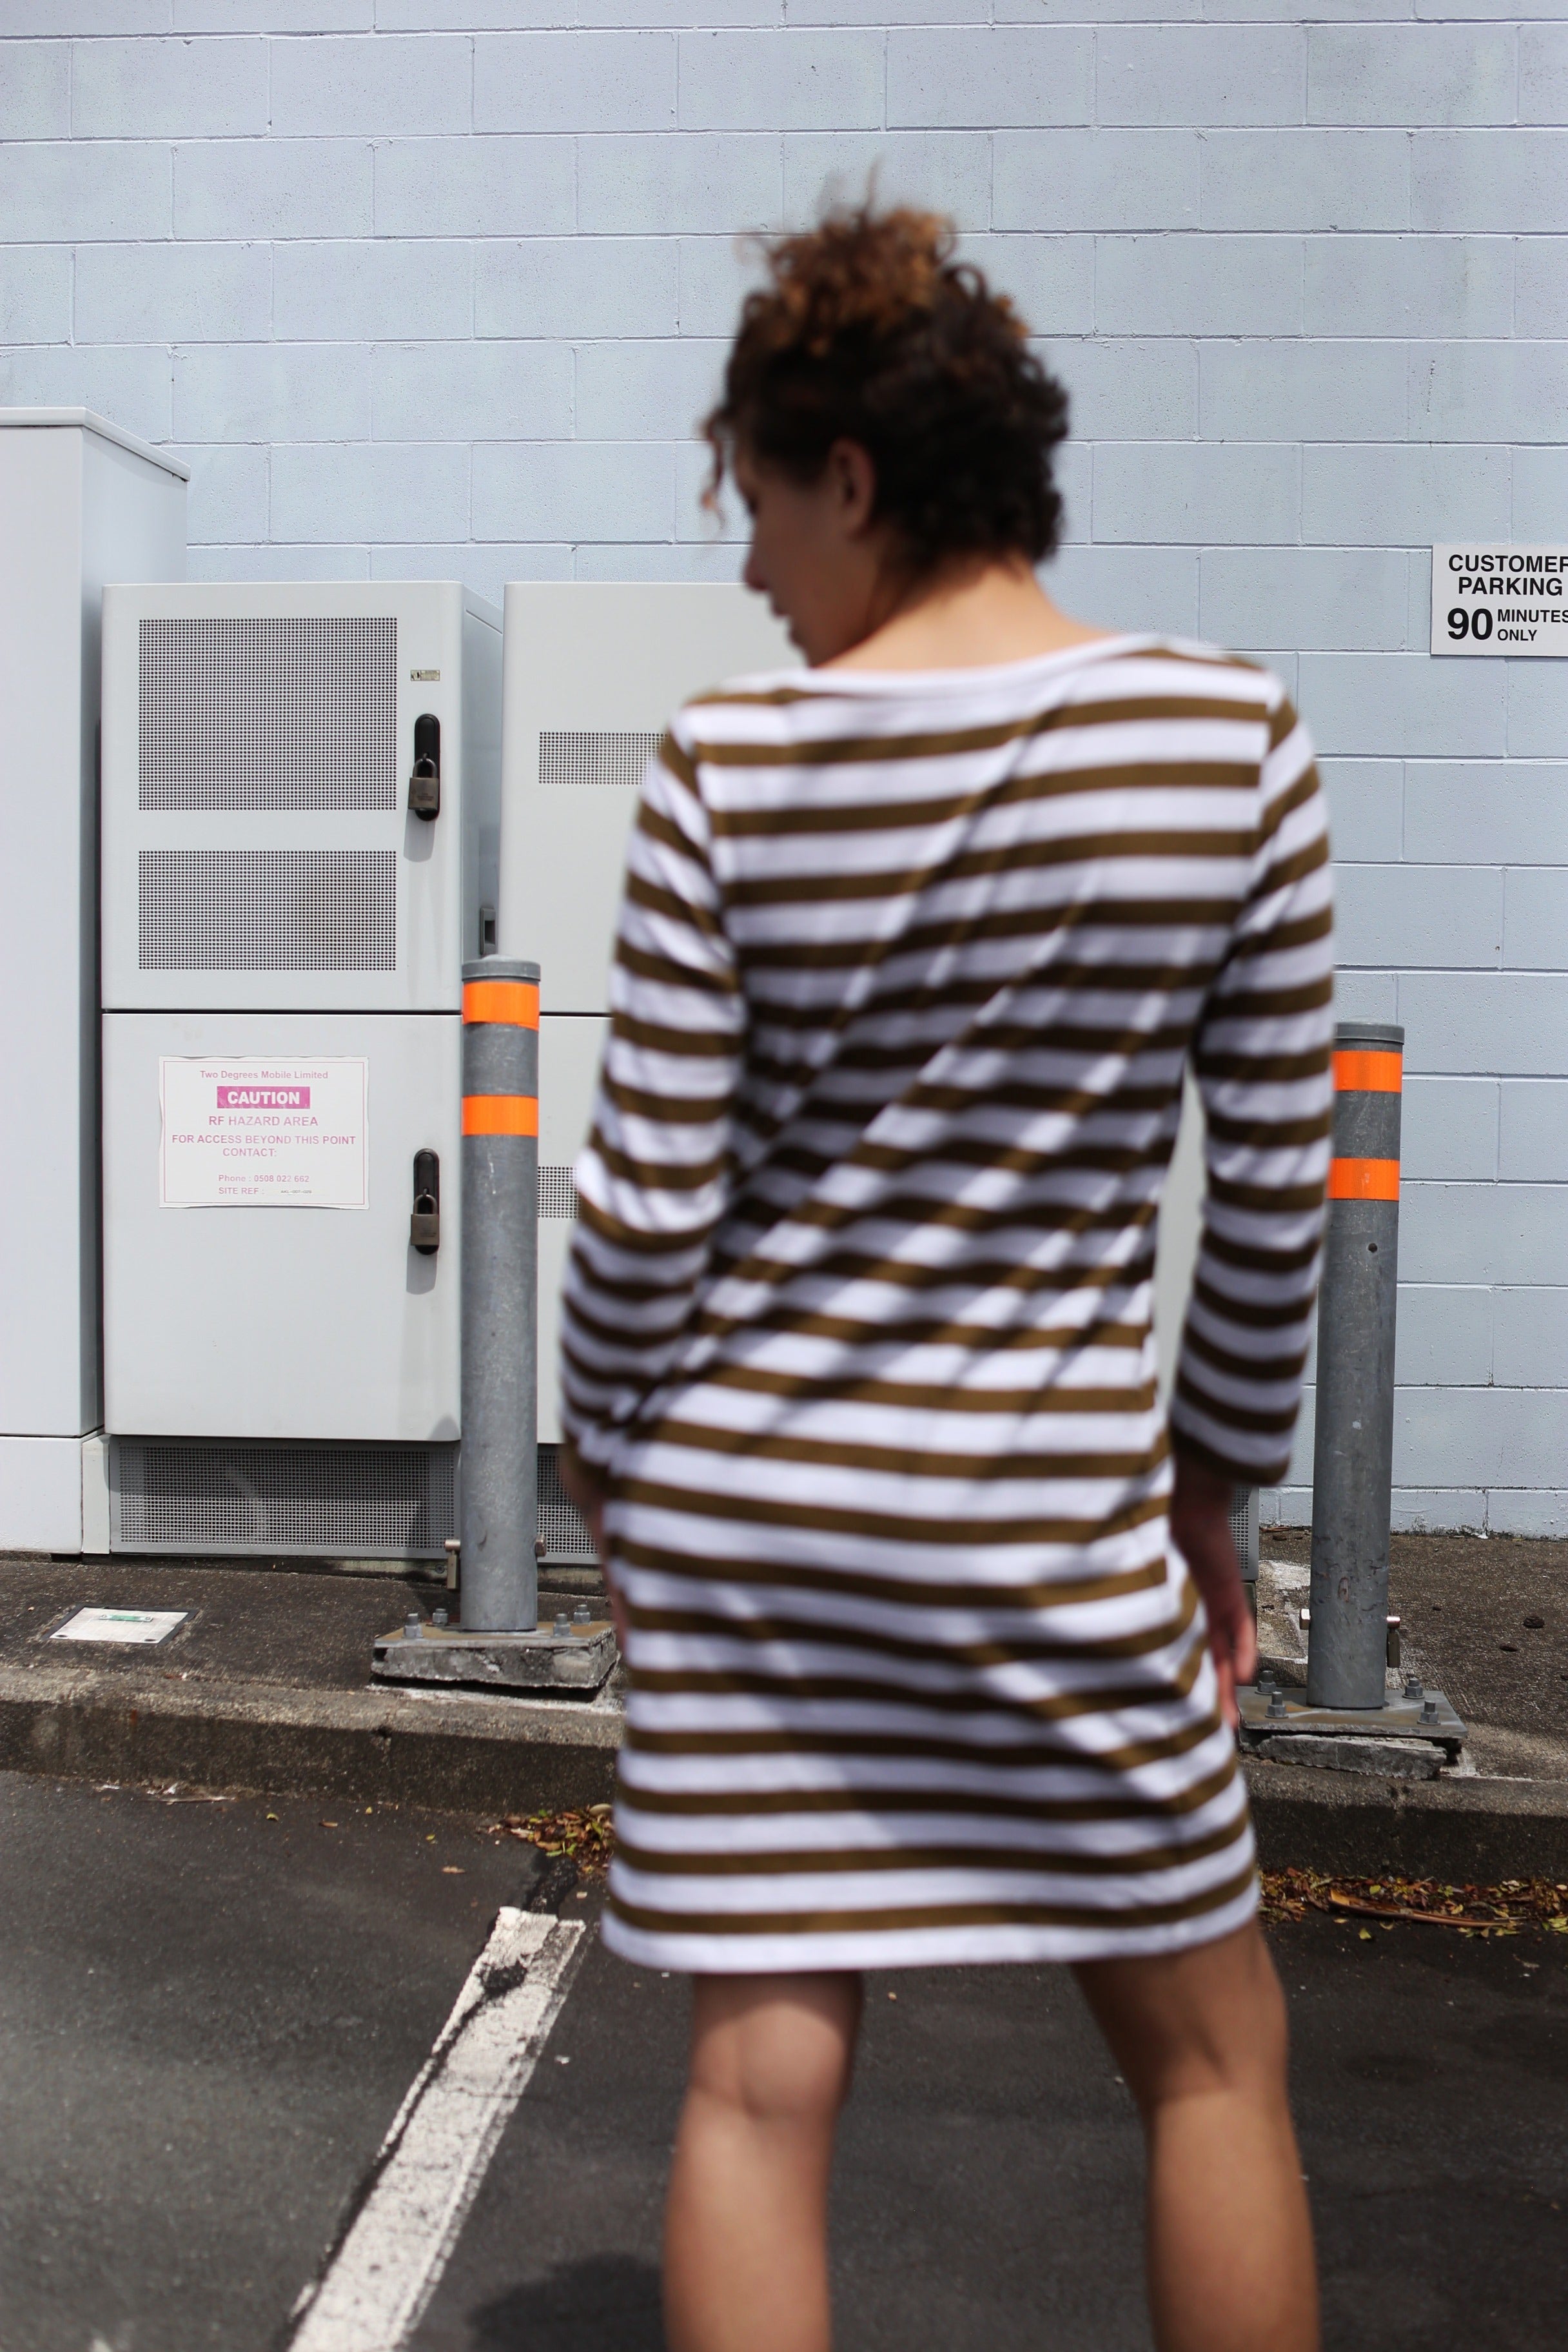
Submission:
[[[637,786],[691,694],[792,668],[762,597],[729,586],[508,583],[501,946],[541,967],[538,1531],[592,1557],[555,1470],[559,1289],[609,1023],[609,964]]]

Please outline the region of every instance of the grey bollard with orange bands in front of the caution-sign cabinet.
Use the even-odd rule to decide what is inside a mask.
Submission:
[[[538,1625],[538,964],[463,964],[463,1632]]]

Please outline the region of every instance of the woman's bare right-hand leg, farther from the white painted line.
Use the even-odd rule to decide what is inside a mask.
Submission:
[[[1159,2352],[1316,2352],[1286,2004],[1262,1933],[1074,1973],[1143,2112]]]

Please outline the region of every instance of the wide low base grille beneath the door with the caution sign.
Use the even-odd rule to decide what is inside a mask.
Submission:
[[[458,1531],[456,1451],[118,1437],[115,1545],[440,1559]]]

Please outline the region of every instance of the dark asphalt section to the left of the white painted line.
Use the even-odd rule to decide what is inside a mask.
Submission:
[[[0,2347],[263,2352],[534,1849],[0,1776]]]

